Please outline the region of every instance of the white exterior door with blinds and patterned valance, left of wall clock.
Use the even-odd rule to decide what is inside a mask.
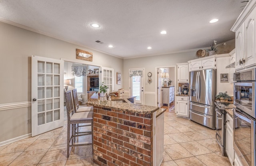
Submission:
[[[136,104],[144,104],[144,69],[129,69],[130,95],[136,96]]]

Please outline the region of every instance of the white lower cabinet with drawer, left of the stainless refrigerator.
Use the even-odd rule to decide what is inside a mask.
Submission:
[[[188,117],[188,96],[177,96],[176,99],[176,114],[178,116]]]

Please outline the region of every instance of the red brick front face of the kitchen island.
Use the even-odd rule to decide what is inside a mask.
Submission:
[[[152,114],[94,106],[93,161],[100,166],[153,166]]]

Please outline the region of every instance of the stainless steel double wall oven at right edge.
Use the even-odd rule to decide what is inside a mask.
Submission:
[[[234,150],[244,166],[255,166],[256,69],[234,74]]]

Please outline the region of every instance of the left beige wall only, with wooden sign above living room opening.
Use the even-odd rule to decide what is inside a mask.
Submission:
[[[123,73],[123,59],[0,22],[0,143],[31,132],[31,56],[76,60],[76,48],[92,52],[91,63],[114,68],[115,80],[116,71]],[[122,87],[114,82],[115,90]],[[18,109],[4,110],[7,103]]]

